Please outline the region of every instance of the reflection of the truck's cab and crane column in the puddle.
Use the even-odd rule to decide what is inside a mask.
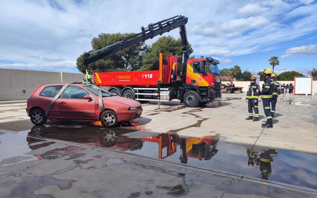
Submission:
[[[198,158],[199,161],[210,160],[217,154],[216,149],[219,136],[204,136],[194,138],[179,138],[182,154],[179,157],[181,163],[187,164],[187,157]]]

